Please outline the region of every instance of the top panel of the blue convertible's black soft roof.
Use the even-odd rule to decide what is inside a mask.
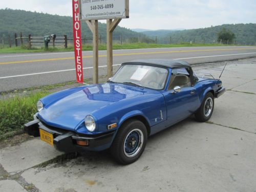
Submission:
[[[133,64],[133,63],[134,64],[145,63],[145,64],[151,64],[156,66],[168,67],[168,68],[190,67],[186,61],[174,60],[174,59],[139,59],[139,60],[124,62],[122,63],[122,65]]]

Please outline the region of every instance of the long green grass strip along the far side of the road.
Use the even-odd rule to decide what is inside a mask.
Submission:
[[[178,48],[178,47],[213,47],[213,46],[227,46],[223,44],[190,44],[190,42],[181,42],[180,44],[146,44],[143,42],[133,43],[133,44],[114,44],[113,49],[146,49],[146,48]],[[228,45],[232,46],[232,45]],[[86,44],[82,46],[83,51],[92,51],[92,44]],[[106,50],[106,44],[99,44],[99,50]],[[27,46],[22,47],[12,47],[0,48],[0,53],[38,53],[38,52],[61,52],[61,51],[74,51],[74,47],[70,46],[67,49],[65,48],[49,48],[46,50],[44,47],[41,48],[31,48]]]

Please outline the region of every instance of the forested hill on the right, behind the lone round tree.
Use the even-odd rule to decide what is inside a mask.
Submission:
[[[196,43],[212,43],[217,41],[217,34],[222,28],[226,28],[236,35],[236,44],[256,45],[256,24],[221,25],[202,29],[169,32],[166,30],[157,30],[143,33],[147,36],[151,36],[152,38],[157,36],[159,43],[169,43],[170,37],[172,37],[173,43],[180,42],[182,39],[186,42],[194,41],[195,39]]]

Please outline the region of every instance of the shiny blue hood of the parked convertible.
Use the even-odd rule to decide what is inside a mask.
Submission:
[[[72,89],[70,92],[63,92],[62,95],[60,92],[49,95],[46,99],[42,98],[45,108],[37,116],[50,126],[74,131],[87,115],[92,115],[112,103],[138,97],[150,91],[114,83]]]

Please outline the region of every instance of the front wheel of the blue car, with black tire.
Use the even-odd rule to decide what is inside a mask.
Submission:
[[[139,159],[145,149],[146,142],[146,126],[139,120],[131,119],[124,122],[118,130],[110,152],[118,163],[131,164]]]

